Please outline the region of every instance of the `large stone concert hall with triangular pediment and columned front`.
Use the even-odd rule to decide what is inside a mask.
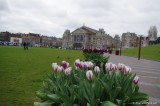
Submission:
[[[114,42],[115,39],[106,34],[104,29],[95,30],[82,26],[73,32],[65,30],[62,47],[70,49],[108,49],[113,47]]]

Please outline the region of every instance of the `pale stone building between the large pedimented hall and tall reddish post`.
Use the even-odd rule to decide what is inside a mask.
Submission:
[[[122,34],[122,48],[137,47],[137,43],[137,34],[130,32]]]

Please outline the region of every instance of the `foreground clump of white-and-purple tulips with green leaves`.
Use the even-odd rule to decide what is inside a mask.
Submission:
[[[122,63],[99,67],[77,59],[73,68],[66,61],[53,63],[52,68],[36,92],[41,99],[36,106],[139,106],[148,102],[148,95],[139,92],[139,77]]]

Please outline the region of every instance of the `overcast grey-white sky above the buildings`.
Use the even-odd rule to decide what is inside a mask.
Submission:
[[[62,37],[83,24],[111,36],[155,25],[160,35],[160,0],[0,0],[0,32]]]

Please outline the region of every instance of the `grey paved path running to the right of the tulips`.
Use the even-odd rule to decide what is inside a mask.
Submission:
[[[149,106],[160,106],[160,62],[116,55],[110,55],[109,62],[129,65],[140,77],[140,91],[150,96]]]

